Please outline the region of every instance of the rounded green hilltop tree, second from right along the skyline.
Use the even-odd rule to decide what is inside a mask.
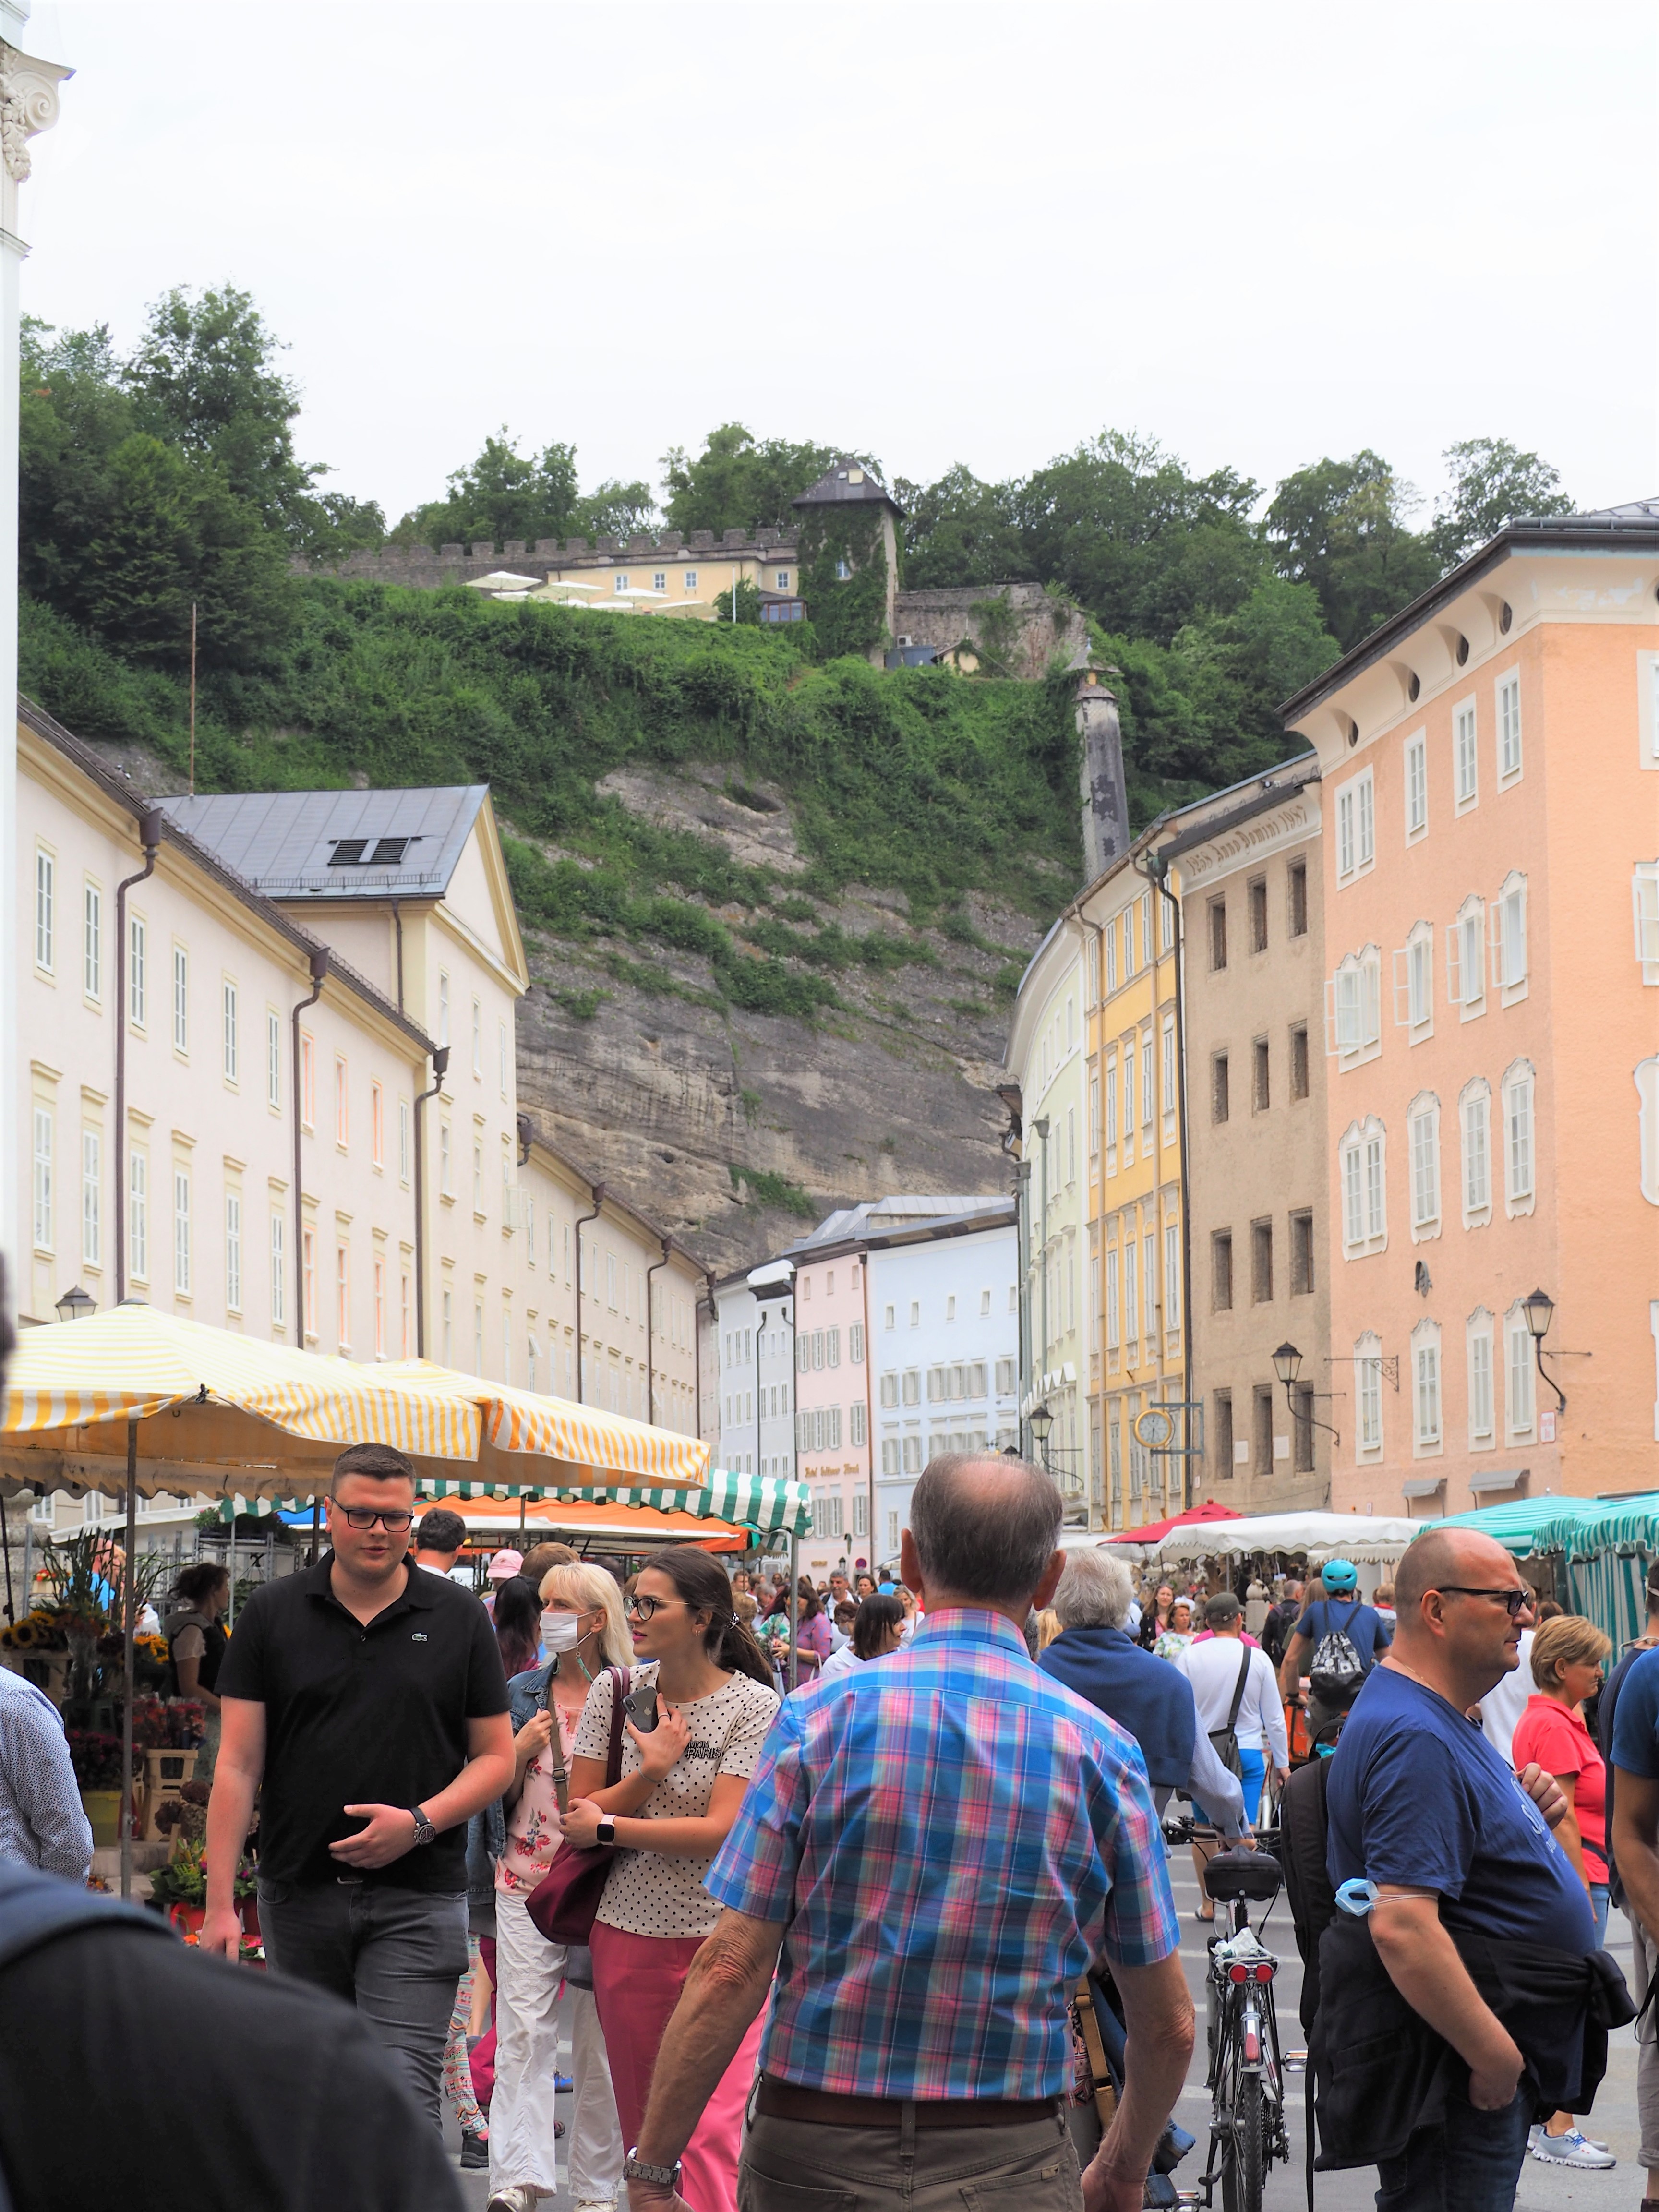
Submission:
[[[1411,531],[1418,504],[1380,453],[1318,460],[1283,478],[1265,513],[1279,573],[1312,584],[1343,653],[1440,575],[1433,544]]]

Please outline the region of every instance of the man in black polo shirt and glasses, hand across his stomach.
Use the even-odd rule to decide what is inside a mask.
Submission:
[[[414,1469],[334,1464],[332,1551],[248,1599],[219,1670],[201,1942],[237,1955],[232,1874],[259,1809],[259,1924],[279,1973],[356,2004],[438,2126],[467,1969],[467,1820],[513,1781],[484,1608],[409,1566]]]

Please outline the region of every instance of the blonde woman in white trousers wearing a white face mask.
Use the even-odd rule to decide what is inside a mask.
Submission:
[[[489,2108],[489,2212],[533,2212],[557,2188],[553,2117],[560,1991],[571,2022],[568,2192],[611,2208],[622,2188],[622,2124],[611,2088],[588,1953],[546,1942],[529,1893],[562,1847],[557,1781],[595,1677],[633,1663],[622,1590],[599,1566],[555,1566],[542,1579],[546,1666],[507,1686],[518,1772],[504,1798],[507,1849],[495,1865],[495,2095]],[[553,1730],[557,1728],[557,1739]]]

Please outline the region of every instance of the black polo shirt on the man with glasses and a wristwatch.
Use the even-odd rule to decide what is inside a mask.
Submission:
[[[334,1597],[334,1553],[268,1582],[237,1615],[219,1694],[265,1708],[259,1874],[332,1882],[330,1843],[365,1825],[345,1805],[420,1805],[467,1765],[467,1721],[507,1712],[495,1630],[458,1584],[409,1566],[409,1586],[365,1628]],[[396,1889],[467,1887],[467,1825],[361,1869]]]

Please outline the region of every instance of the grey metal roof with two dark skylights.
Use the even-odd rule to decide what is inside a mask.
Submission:
[[[487,792],[223,792],[157,805],[268,898],[442,898]]]

